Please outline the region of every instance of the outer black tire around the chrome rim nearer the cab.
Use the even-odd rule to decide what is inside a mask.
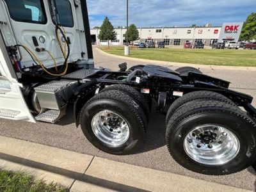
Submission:
[[[100,141],[92,130],[92,120],[100,111],[111,110],[122,116],[129,125],[129,138],[124,144],[113,147]],[[97,148],[109,154],[123,155],[134,153],[145,140],[145,115],[143,109],[123,92],[99,93],[84,105],[80,113],[80,124],[84,136]]]

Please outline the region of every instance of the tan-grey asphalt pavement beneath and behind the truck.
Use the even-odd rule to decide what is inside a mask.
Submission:
[[[94,57],[96,67],[108,67],[113,70],[118,69],[118,63],[126,61],[105,56],[95,49]],[[139,61],[127,60],[126,62],[129,67],[139,63],[141,64]],[[172,68],[177,67],[173,66]],[[239,92],[248,93],[256,98],[256,71],[215,70],[211,68],[201,68],[200,70],[210,76],[220,77],[227,81],[231,81],[232,84],[230,88]],[[256,106],[256,100],[253,100],[253,106]],[[164,115],[159,115],[154,110],[151,111],[145,145],[140,151],[136,152],[136,154],[129,156],[113,156],[101,152],[97,148],[93,147],[93,145],[84,138],[81,129],[76,129],[72,115],[70,115],[70,117],[67,116],[67,118],[64,118],[61,122],[55,125],[0,120],[0,134],[2,136],[32,141],[52,147],[64,148],[124,163],[178,173],[180,175],[186,175],[196,179],[218,182],[237,188],[249,189],[252,191],[256,190],[256,172],[252,167],[232,175],[209,176],[191,172],[175,163],[172,157],[168,154],[168,150],[165,145],[164,119]],[[79,161],[79,159],[77,159],[77,161]],[[115,164],[109,164],[109,166],[115,166]]]

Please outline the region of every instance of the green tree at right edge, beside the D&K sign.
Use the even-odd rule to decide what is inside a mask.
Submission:
[[[253,39],[256,39],[256,12],[250,14],[245,20],[239,40],[250,41]]]

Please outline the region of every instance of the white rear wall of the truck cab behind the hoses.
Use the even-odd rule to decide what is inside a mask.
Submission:
[[[1,0],[0,7],[8,16],[8,23],[12,26],[15,36],[14,44],[26,45],[45,67],[53,67],[51,56],[47,52],[36,52],[36,47],[43,47],[56,59],[57,65],[63,65],[65,61],[58,44],[54,17],[51,14],[49,0]],[[61,26],[65,29],[70,44],[69,62],[83,60],[81,52],[87,53],[81,48],[79,40],[79,26],[77,26],[77,15],[74,1],[56,0],[56,7]],[[4,39],[8,41],[7,39]],[[81,51],[82,50],[82,51]],[[20,49],[22,55],[22,68],[31,67],[33,60],[29,54]],[[84,55],[83,55],[84,56]]]

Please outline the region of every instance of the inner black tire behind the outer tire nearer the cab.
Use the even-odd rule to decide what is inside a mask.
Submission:
[[[148,104],[145,101],[145,97],[140,92],[138,92],[136,89],[132,88],[131,86],[128,86],[125,84],[114,84],[104,88],[100,92],[108,92],[110,90],[118,90],[120,92],[124,92],[125,94],[129,95],[132,99],[134,99],[135,102],[139,104],[143,109],[143,111],[145,112],[147,122],[148,122],[150,111],[148,108]]]

